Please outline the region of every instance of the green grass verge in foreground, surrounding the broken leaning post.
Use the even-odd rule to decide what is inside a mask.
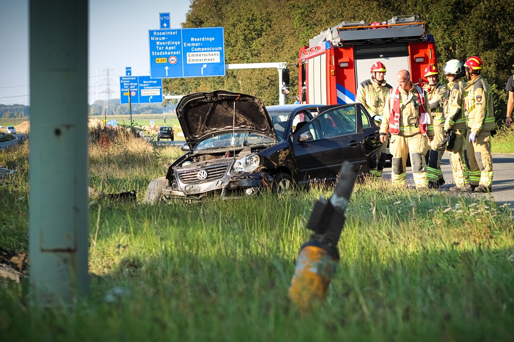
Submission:
[[[28,147],[0,151],[0,246],[27,251]],[[290,196],[143,203],[178,148],[92,143],[90,186],[138,191],[89,205],[90,296],[38,310],[27,284],[0,287],[0,336],[23,341],[514,340],[514,227],[507,205],[357,184],[327,298],[297,310],[287,290],[313,203]],[[98,234],[97,234],[98,231]]]

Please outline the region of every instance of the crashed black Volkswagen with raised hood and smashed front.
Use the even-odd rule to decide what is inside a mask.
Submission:
[[[218,90],[183,97],[176,112],[187,153],[170,165],[164,196],[251,196],[335,182],[345,160],[365,175],[379,145],[379,127],[355,103],[265,107],[259,98]]]

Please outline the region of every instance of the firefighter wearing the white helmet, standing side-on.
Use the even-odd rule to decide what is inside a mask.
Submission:
[[[462,79],[466,70],[459,60],[450,60],[443,67],[444,75],[448,80],[450,94],[445,103],[446,121],[444,131],[448,141],[446,149],[450,153],[450,164],[453,172],[455,186],[450,192],[469,193],[472,191],[469,185],[469,175],[464,161],[464,146],[466,141],[466,117],[464,116],[464,88],[466,82]],[[434,127],[435,128],[435,127]]]

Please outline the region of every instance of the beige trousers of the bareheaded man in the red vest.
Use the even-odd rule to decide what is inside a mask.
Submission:
[[[392,135],[389,149],[393,155],[391,181],[393,185],[405,185],[407,182],[407,156],[411,158],[412,176],[416,188],[428,187],[425,155],[428,150],[428,138],[421,134],[405,137]]]

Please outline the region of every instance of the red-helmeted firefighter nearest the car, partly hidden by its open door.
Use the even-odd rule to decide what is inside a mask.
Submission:
[[[371,116],[382,115],[386,97],[393,88],[386,83],[386,66],[377,62],[371,66],[371,79],[365,80],[357,90],[357,102],[362,103],[370,112]],[[370,174],[375,177],[382,177],[382,171],[386,164],[387,139],[377,149],[377,158],[370,162]]]

